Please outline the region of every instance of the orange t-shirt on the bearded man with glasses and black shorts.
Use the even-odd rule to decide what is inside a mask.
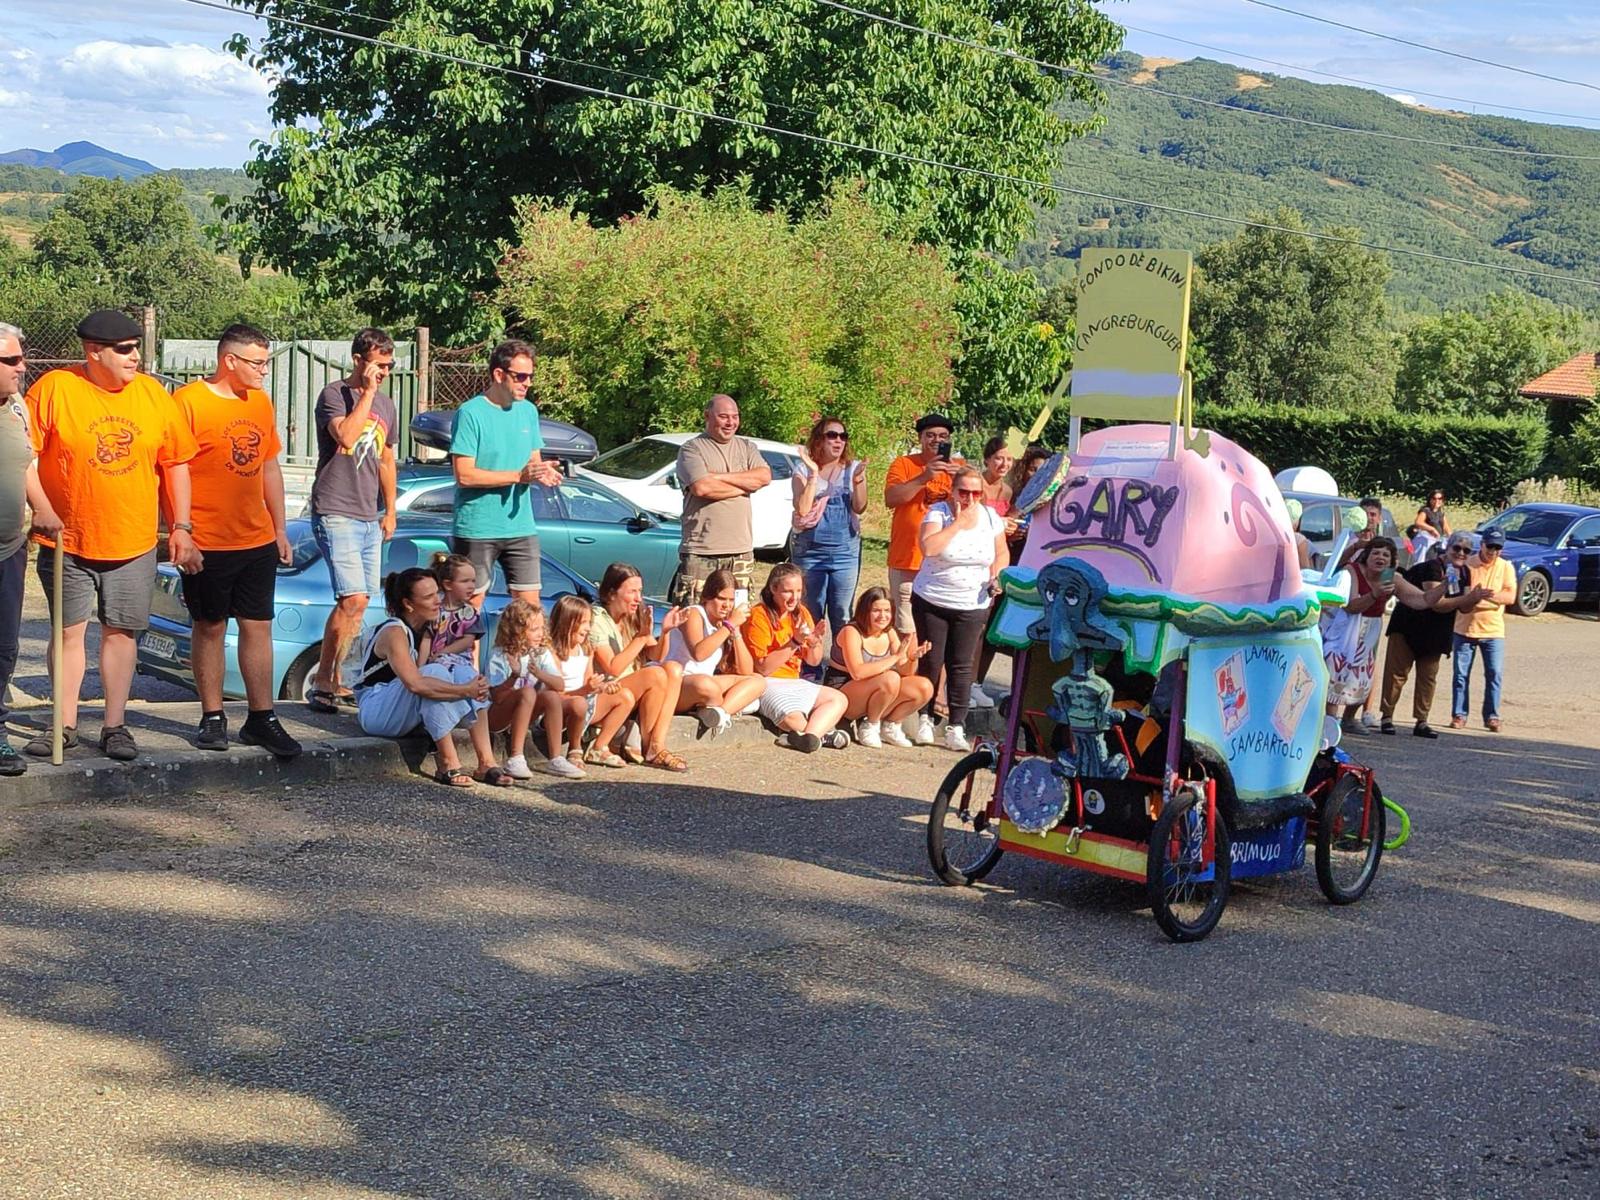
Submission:
[[[262,469],[283,450],[272,400],[251,387],[242,397],[218,395],[205,379],[173,392],[200,450],[189,461],[195,546],[202,550],[253,550],[277,534],[267,512]]]

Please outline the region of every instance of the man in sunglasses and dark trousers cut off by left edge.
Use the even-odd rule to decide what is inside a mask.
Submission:
[[[22,403],[26,376],[22,331],[0,323],[0,723],[6,718],[5,698],[16,670],[22,629],[27,507],[38,499],[34,446],[27,438],[27,406]],[[11,749],[0,731],[0,776],[22,774],[26,770],[27,760]]]

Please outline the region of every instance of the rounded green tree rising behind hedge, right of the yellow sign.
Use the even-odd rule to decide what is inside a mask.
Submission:
[[[1293,232],[1245,229],[1197,256],[1190,328],[1205,347],[1203,398],[1371,408],[1394,395],[1386,256],[1306,237],[1291,208],[1253,218]],[[1360,230],[1330,229],[1355,238]]]

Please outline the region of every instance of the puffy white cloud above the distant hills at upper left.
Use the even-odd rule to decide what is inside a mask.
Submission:
[[[192,42],[85,42],[61,59],[59,77],[64,96],[90,101],[259,99],[269,91],[267,80],[245,62]]]

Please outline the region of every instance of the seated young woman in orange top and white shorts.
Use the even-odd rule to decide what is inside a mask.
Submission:
[[[811,754],[819,746],[843,750],[850,738],[835,730],[845,715],[845,694],[800,678],[800,664],[822,662],[827,622],[816,626],[800,597],[805,578],[794,563],[778,563],[766,576],[762,603],[744,622],[744,643],[755,669],[766,675],[762,715],[779,728],[778,744]]]

